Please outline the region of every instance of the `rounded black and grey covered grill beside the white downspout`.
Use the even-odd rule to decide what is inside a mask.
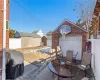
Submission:
[[[24,72],[24,56],[21,52],[9,50],[7,52],[6,78],[15,79]]]

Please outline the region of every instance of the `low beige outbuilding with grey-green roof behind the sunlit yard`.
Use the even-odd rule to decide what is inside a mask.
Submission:
[[[41,36],[35,33],[15,32],[15,38],[21,38],[21,48],[41,45]]]

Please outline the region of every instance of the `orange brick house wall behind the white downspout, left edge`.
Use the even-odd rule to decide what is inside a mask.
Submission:
[[[0,69],[2,68],[2,47],[3,47],[3,1],[0,0]],[[9,0],[7,0],[7,15],[6,19],[9,21]],[[9,30],[6,30],[6,49],[9,49]],[[0,71],[0,76],[1,76]],[[1,80],[1,77],[0,77]]]

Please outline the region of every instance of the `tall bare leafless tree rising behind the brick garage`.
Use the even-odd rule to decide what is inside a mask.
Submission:
[[[96,5],[96,1],[97,0],[77,0],[77,4],[75,5],[74,10],[78,14],[78,18],[80,20],[79,23],[85,21],[87,31],[89,27],[91,27],[91,21],[92,21],[92,16]]]

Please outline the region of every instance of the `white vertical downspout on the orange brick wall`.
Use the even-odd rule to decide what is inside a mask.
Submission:
[[[6,0],[3,0],[3,54],[2,54],[2,80],[6,80]]]

